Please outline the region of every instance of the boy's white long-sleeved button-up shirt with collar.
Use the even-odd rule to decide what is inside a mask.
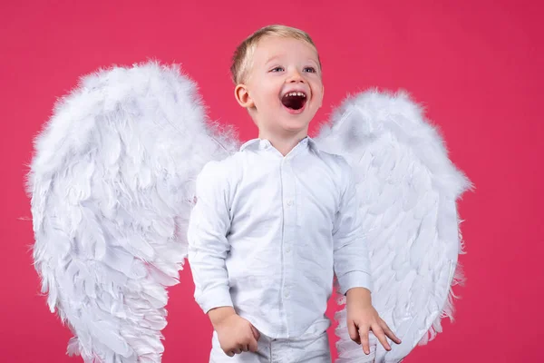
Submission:
[[[189,218],[195,299],[222,306],[270,338],[325,330],[334,273],[341,293],[372,289],[355,183],[341,156],[306,137],[285,157],[254,139],[196,182]]]

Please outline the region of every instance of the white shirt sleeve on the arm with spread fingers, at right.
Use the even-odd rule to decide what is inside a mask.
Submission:
[[[345,295],[352,288],[372,290],[373,281],[354,172],[344,159],[342,162],[345,190],[335,215],[333,241],[335,274],[340,292]]]

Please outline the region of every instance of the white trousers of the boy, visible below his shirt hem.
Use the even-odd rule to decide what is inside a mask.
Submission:
[[[268,338],[261,334],[257,352],[242,352],[228,357],[213,332],[209,363],[331,363],[331,351],[325,332],[306,333],[299,338]]]

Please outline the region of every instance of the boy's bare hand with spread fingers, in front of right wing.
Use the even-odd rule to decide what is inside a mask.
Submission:
[[[391,338],[396,344],[401,344],[401,339],[397,338],[385,321],[380,318],[378,312],[370,303],[370,291],[368,289],[348,291],[347,299],[347,330],[349,337],[357,344],[363,345],[364,354],[370,354],[370,346],[368,342],[368,333],[373,331],[374,336],[378,338],[385,350],[391,350],[391,346],[387,342],[385,336]],[[368,298],[367,298],[368,296]]]

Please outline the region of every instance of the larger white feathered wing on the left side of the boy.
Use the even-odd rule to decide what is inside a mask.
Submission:
[[[35,268],[85,362],[160,362],[194,179],[238,148],[196,86],[149,63],[86,76],[35,140]]]

